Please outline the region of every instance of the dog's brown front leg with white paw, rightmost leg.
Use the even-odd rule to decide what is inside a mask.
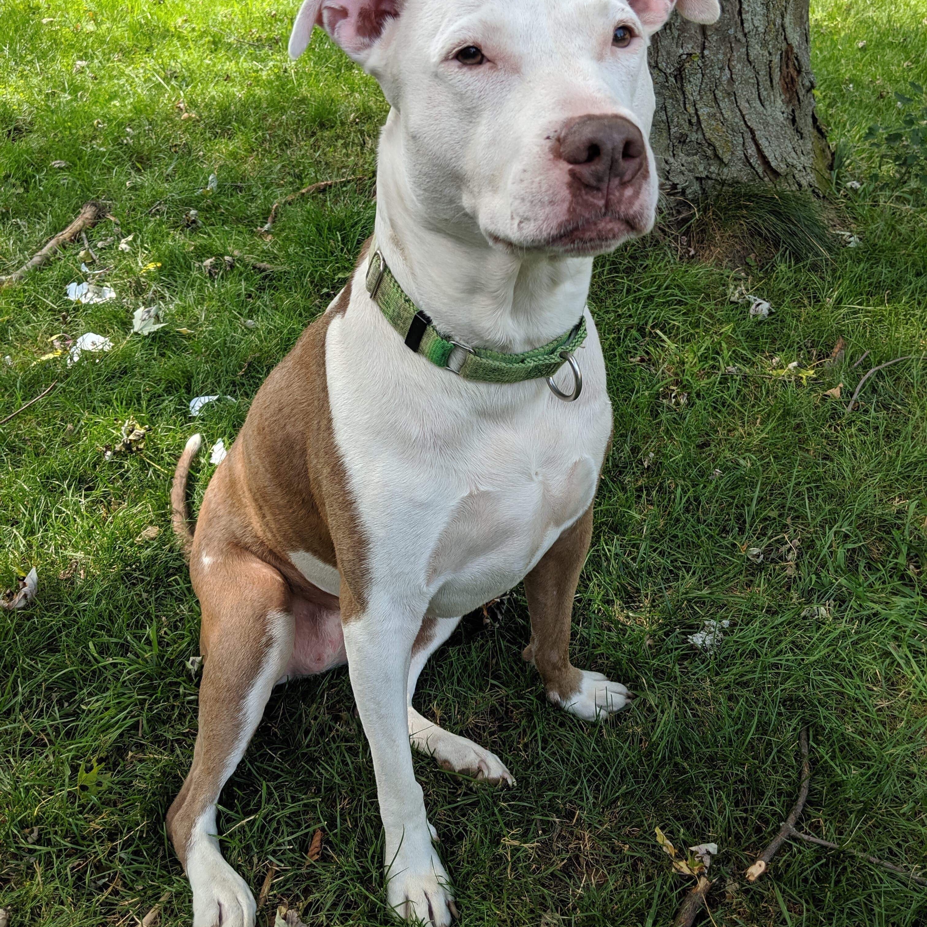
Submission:
[[[553,542],[525,578],[531,642],[523,656],[538,667],[547,697],[571,715],[595,721],[631,696],[620,682],[570,663],[570,624],[579,574],[592,538],[592,507]]]

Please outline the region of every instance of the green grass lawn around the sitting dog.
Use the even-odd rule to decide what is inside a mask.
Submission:
[[[65,298],[83,279],[79,248],[0,293],[0,417],[58,381],[0,426],[0,588],[33,565],[39,575],[37,603],[0,613],[0,906],[12,927],[133,924],[165,893],[162,923],[189,922],[163,816],[195,736],[185,662],[198,620],[167,474],[195,426],[230,443],[345,280],[373,221],[386,111],[321,36],[286,61],[292,12],[267,0],[0,11],[0,273],[92,197],[118,221],[92,243],[133,235],[128,251],[100,254],[118,299]],[[820,117],[841,150],[832,209],[858,248],[748,265],[746,280],[655,238],[598,263],[616,440],[574,651],[641,697],[602,727],[553,711],[518,655],[517,597],[489,627],[464,623],[425,670],[425,714],[489,745],[519,783],[497,794],[415,760],[464,924],[534,927],[547,912],[548,927],[668,923],[687,885],[657,826],[677,846],[719,844],[719,925],[927,920],[921,889],[811,846],[786,846],[764,880],[743,880],[794,801],[803,725],[806,828],[903,866],[927,854],[925,368],[883,371],[847,416],[824,395],[843,383],[845,400],[870,363],[927,349],[927,209],[845,186],[868,176],[862,138],[892,120],[893,91],[927,83],[925,17],[925,0],[812,11]],[[355,174],[368,180],[298,199],[272,240],[255,234],[281,196]],[[283,270],[200,269],[235,249]],[[771,302],[768,320],[728,300],[732,282]],[[133,311],[156,301],[166,326],[131,335]],[[113,349],[70,368],[41,360],[50,339],[87,331]],[[825,366],[838,337],[845,359]],[[794,361],[815,375],[789,372]],[[720,373],[730,366],[743,375]],[[235,402],[194,423],[200,394]],[[149,429],[144,450],[106,459],[131,416]],[[199,466],[199,494],[210,470]],[[136,540],[151,526],[155,539]],[[716,620],[730,626],[706,655],[687,638]],[[83,781],[93,761],[102,787]],[[282,900],[310,927],[387,921],[344,671],[273,696],[222,808],[224,851],[254,890],[278,869],[262,923]],[[322,856],[307,864],[317,829]]]

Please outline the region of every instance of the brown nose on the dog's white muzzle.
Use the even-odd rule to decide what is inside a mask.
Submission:
[[[645,150],[641,130],[623,116],[577,116],[560,131],[560,157],[575,165],[570,173],[597,190],[613,180],[629,184]]]

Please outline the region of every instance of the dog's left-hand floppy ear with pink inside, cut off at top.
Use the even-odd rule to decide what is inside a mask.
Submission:
[[[290,33],[289,56],[298,58],[309,45],[312,28],[321,26],[362,64],[401,6],[402,0],[305,0]]]

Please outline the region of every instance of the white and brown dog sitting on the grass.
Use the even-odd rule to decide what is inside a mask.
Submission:
[[[678,6],[696,22],[719,12],[717,0]],[[196,534],[184,487],[199,436],[177,466],[174,525],[202,606],[205,664],[193,766],[168,829],[195,927],[253,927],[253,896],[219,849],[216,802],[278,682],[347,662],[374,762],[388,904],[435,927],[454,904],[410,742],[447,767],[514,782],[499,757],[412,705],[459,616],[524,580],[524,655],[550,701],[588,720],[626,704],[624,686],[568,654],[612,430],[586,297],[592,257],[654,222],[647,44],[672,8],[306,0],[299,10],[290,55],[323,27],[391,106],[377,249],[260,388]],[[448,369],[397,333],[376,299],[384,268],[421,311],[420,328],[459,355]],[[544,376],[455,375],[475,351],[525,356],[583,319],[582,347],[552,381],[575,395],[578,368],[576,401],[558,399]]]

